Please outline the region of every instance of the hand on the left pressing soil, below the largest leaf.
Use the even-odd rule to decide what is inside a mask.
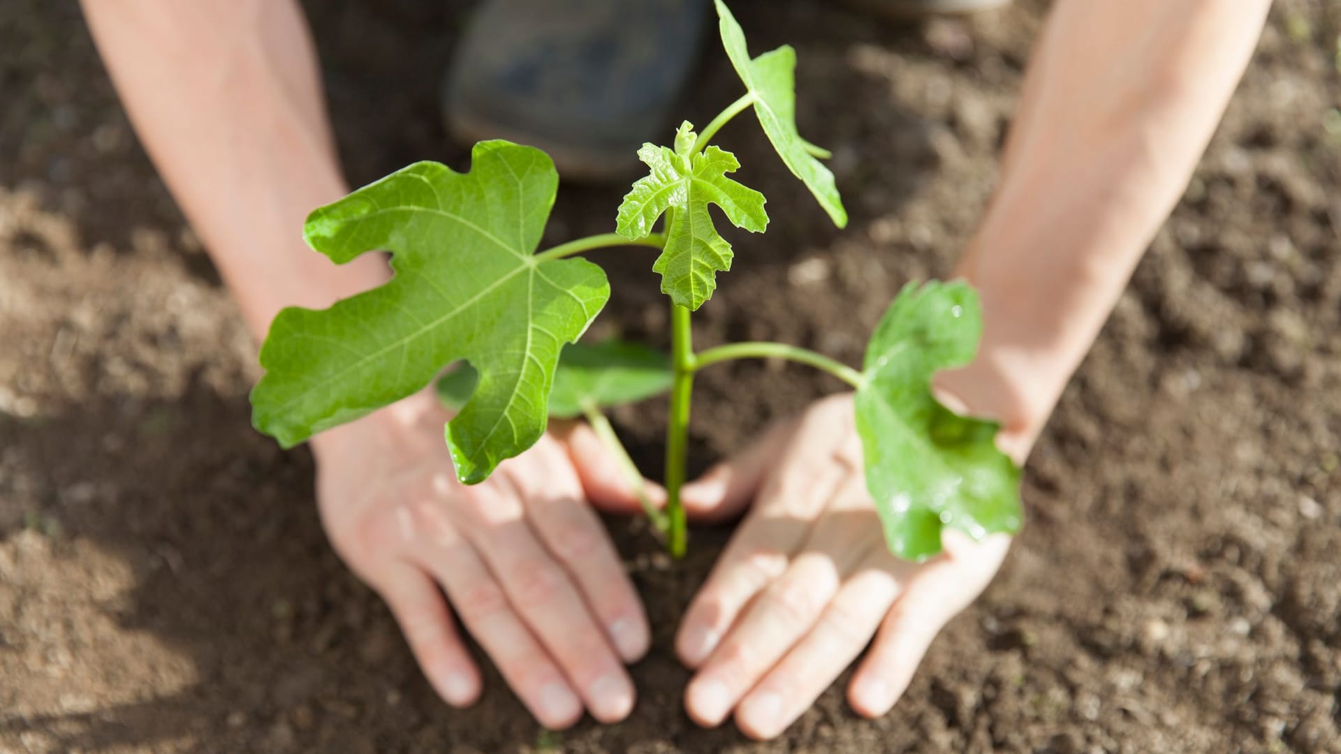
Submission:
[[[641,657],[650,632],[587,503],[634,504],[618,466],[581,425],[467,487],[443,441],[447,417],[422,392],[314,439],[331,545],[386,600],[448,704],[472,704],[481,678],[444,593],[540,724],[567,727],[583,707],[624,719],[634,690],[621,660]]]

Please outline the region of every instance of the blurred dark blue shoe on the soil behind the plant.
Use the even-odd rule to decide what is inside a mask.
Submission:
[[[507,138],[554,157],[559,174],[614,180],[696,62],[708,0],[487,0],[469,19],[444,83],[448,129]],[[664,140],[662,140],[664,141]]]

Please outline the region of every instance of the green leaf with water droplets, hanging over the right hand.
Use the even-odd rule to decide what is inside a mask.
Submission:
[[[937,370],[972,361],[982,331],[967,283],[911,283],[866,346],[857,432],[866,488],[898,557],[939,553],[944,526],[975,539],[1019,530],[1021,472],[996,449],[998,424],[959,416],[931,392]]]

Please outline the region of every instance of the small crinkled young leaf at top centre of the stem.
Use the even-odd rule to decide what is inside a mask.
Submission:
[[[768,225],[763,195],[725,174],[740,168],[730,152],[709,146],[693,150],[688,122],[676,134],[676,149],[644,144],[638,150],[652,174],[638,178],[624,197],[616,231],[637,240],[652,232],[661,213],[672,209],[665,248],[652,270],[661,274],[661,291],[680,306],[699,309],[717,287],[717,271],[731,268],[731,244],[708,215],[716,204],[736,227],[762,233]]]

